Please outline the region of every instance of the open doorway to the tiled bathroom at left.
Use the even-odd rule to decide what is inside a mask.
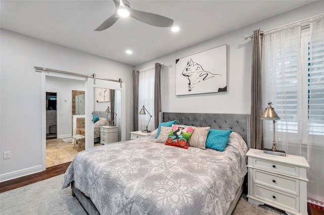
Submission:
[[[46,168],[71,162],[79,151],[85,149],[84,146],[80,147],[80,149],[78,145],[75,147],[72,141],[72,91],[83,92],[84,95],[86,89],[85,83],[85,79],[80,80],[79,78],[75,79],[75,77],[56,76],[54,74],[47,74],[45,76],[45,89],[47,94],[45,101],[46,124],[44,125],[46,130],[44,143]],[[83,101],[83,103],[85,103],[85,101]],[[51,116],[49,116],[50,114],[56,115],[56,131],[54,131],[52,124],[49,125],[49,118],[51,118]],[[55,136],[52,134],[54,132],[56,133]],[[49,138],[49,136],[52,138]]]

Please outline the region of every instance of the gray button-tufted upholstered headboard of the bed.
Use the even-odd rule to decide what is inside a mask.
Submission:
[[[177,120],[179,125],[232,130],[251,146],[250,115],[247,114],[159,113],[159,122],[172,120]]]

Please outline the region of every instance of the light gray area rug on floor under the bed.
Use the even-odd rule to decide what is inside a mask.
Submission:
[[[34,184],[0,193],[0,214],[87,214],[71,189],[61,189],[63,174]],[[233,215],[284,214],[255,206],[241,197]]]

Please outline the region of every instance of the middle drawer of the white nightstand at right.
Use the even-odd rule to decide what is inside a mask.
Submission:
[[[299,180],[275,174],[254,170],[254,182],[270,186],[284,192],[299,195]]]

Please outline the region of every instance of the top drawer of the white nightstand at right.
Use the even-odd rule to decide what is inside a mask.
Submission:
[[[295,166],[279,164],[258,158],[254,158],[253,166],[261,169],[271,170],[277,173],[299,177],[299,168]]]

